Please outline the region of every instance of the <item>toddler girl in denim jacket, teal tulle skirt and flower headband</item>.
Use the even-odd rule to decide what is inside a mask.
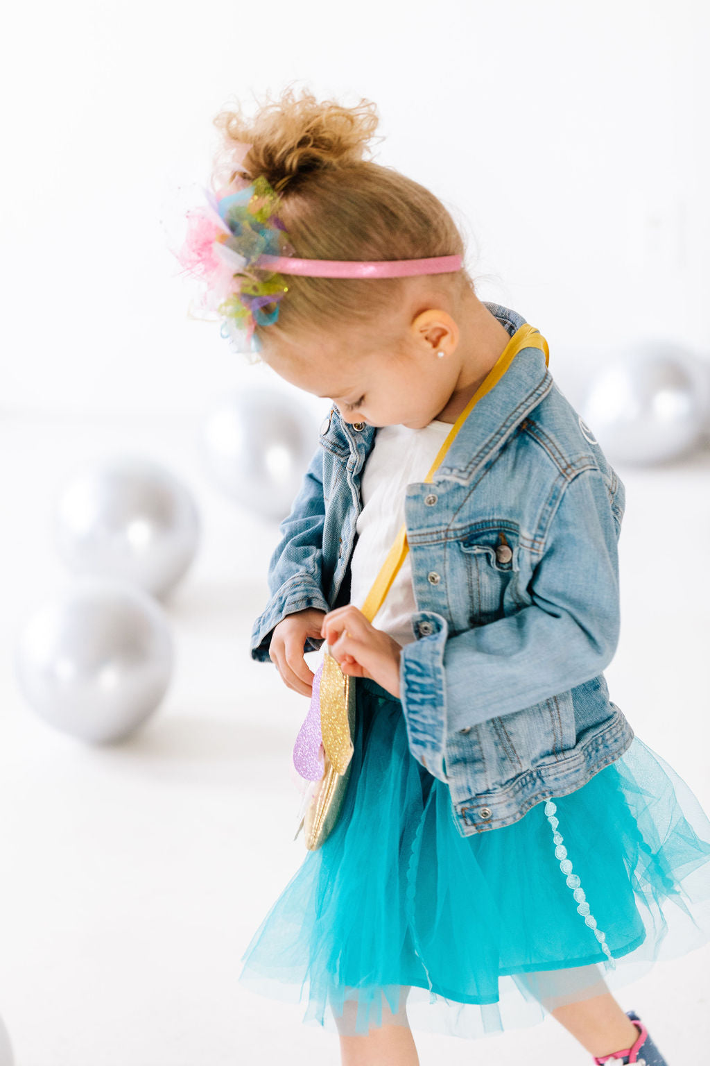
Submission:
[[[214,243],[184,261],[226,336],[332,401],[251,655],[309,697],[325,640],[357,697],[339,820],[241,980],[308,983],[351,1066],[416,1064],[412,1027],[548,1013],[593,1062],[663,1066],[610,989],[707,942],[710,821],[609,699],[624,487],[542,334],[476,295],[446,208],[364,158],[371,103],[287,90],[215,123]]]

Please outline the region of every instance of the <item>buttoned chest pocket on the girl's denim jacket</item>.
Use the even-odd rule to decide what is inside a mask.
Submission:
[[[519,585],[517,533],[496,527],[468,533],[458,542],[472,626],[483,626],[525,605]]]

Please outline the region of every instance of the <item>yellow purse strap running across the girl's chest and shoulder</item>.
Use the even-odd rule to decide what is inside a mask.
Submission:
[[[549,349],[547,346],[547,341],[540,333],[540,330],[535,329],[534,326],[531,326],[529,322],[524,323],[524,325],[522,325],[519,329],[516,329],[513,336],[510,338],[510,341],[508,342],[503,351],[500,353],[499,357],[496,359],[490,372],[486,374],[484,379],[476,389],[473,397],[470,398],[470,400],[468,401],[468,403],[466,404],[466,406],[461,411],[456,422],[451,426],[451,432],[448,434],[446,440],[439,449],[439,452],[436,453],[436,458],[434,459],[432,467],[429,470],[429,473],[424,479],[425,482],[433,481],[433,475],[436,468],[439,467],[440,463],[446,455],[446,452],[449,450],[453,441],[453,438],[456,437],[457,433],[459,432],[463,423],[466,421],[466,418],[468,417],[473,407],[476,406],[481,397],[484,397],[486,392],[490,392],[491,389],[498,384],[498,382],[506,373],[506,371],[510,367],[511,362],[513,361],[517,353],[523,348],[541,349],[541,351],[545,353],[545,365],[546,366],[549,365]],[[408,551],[409,551],[409,543],[407,540],[407,524],[406,522],[402,522],[399,532],[397,533],[395,543],[390,549],[387,558],[382,564],[382,568],[380,569],[380,572],[376,577],[373,587],[367,593],[365,602],[361,608],[362,613],[365,615],[368,621],[371,623],[373,618],[375,617],[380,607],[382,605],[382,601],[390,592],[390,588],[392,587],[392,582],[395,580],[399,567],[404,562],[404,556],[407,555]]]

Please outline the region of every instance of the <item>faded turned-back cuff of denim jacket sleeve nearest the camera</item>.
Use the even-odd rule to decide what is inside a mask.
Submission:
[[[448,623],[434,611],[412,614],[417,637],[399,656],[399,698],[407,723],[409,749],[425,770],[447,781],[447,714],[444,687],[444,647]]]

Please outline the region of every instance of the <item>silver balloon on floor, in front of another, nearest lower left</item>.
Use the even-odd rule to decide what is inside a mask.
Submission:
[[[80,578],[22,628],[16,674],[30,706],[93,743],[127,737],[159,706],[172,671],[162,607],[135,586]]]

